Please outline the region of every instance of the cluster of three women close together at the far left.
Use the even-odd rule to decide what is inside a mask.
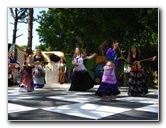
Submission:
[[[23,69],[20,69],[21,65],[17,61],[15,53],[11,53],[11,56],[8,58],[8,74],[12,75],[12,83],[19,85],[20,92],[32,92],[35,88],[44,87],[43,61],[44,57],[40,50],[36,50],[35,55],[33,55],[32,49],[27,48],[22,64]]]

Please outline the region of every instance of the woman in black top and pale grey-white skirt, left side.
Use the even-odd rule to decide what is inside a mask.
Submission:
[[[43,88],[45,81],[44,81],[44,71],[42,64],[44,62],[44,57],[42,55],[41,50],[36,50],[36,53],[33,57],[34,60],[34,69],[33,69],[33,85],[34,88]]]

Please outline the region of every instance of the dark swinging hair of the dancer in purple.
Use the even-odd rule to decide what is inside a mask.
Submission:
[[[113,47],[113,43],[114,41],[112,39],[107,39],[99,46],[99,49],[102,51],[102,55],[105,55],[107,50]]]

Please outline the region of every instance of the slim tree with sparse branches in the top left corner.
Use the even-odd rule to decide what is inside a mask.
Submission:
[[[27,8],[9,8],[9,9],[10,9],[11,16],[14,19],[14,23],[11,23],[11,24],[14,25],[12,44],[15,44],[16,38],[23,35],[21,34],[17,36],[17,30],[18,30],[17,25],[18,23],[25,23],[25,19],[27,17]]]

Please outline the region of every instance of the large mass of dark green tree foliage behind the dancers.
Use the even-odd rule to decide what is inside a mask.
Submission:
[[[79,45],[87,55],[100,54],[99,45],[112,38],[125,58],[132,44],[149,58],[158,55],[158,17],[158,8],[49,8],[38,16],[39,47],[73,54]],[[143,65],[158,67],[157,61]]]

